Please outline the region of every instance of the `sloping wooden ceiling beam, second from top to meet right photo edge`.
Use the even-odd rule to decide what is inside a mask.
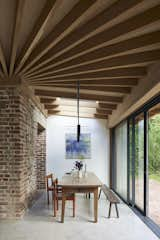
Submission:
[[[64,63],[52,61],[40,69],[31,70],[30,73],[24,74],[24,76],[34,76],[38,73],[44,73],[48,70],[58,72],[61,70],[71,69],[77,66],[86,65],[88,63],[109,59],[114,56],[121,56],[127,54],[127,52],[143,52],[152,48],[155,49],[156,46],[158,48],[159,43],[160,31],[156,31],[149,34],[144,34],[140,37],[134,37],[116,44],[99,48],[90,53],[74,58],[73,60],[67,61],[66,59],[64,61],[63,59]]]

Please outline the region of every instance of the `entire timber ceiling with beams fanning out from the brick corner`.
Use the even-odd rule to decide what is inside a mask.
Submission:
[[[108,118],[160,60],[160,0],[0,0],[0,77],[48,114]],[[13,78],[14,76],[14,78]]]

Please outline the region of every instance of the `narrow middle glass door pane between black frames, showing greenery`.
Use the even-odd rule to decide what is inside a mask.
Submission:
[[[144,114],[137,115],[134,119],[134,173],[135,173],[135,205],[144,211]]]

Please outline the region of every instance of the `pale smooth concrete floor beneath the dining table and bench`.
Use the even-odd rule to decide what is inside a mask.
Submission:
[[[65,222],[60,223],[60,210],[52,216],[52,206],[43,194],[22,220],[1,221],[0,240],[157,240],[152,231],[125,204],[119,205],[120,218],[108,219],[108,203],[103,195],[99,200],[98,223],[93,223],[93,200],[84,195],[76,198],[76,217],[72,205],[66,205]]]

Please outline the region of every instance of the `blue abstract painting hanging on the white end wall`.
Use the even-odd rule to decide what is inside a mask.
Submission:
[[[82,133],[80,141],[77,142],[77,135],[74,133],[66,133],[66,159],[90,159],[91,158],[91,135],[90,133]]]

